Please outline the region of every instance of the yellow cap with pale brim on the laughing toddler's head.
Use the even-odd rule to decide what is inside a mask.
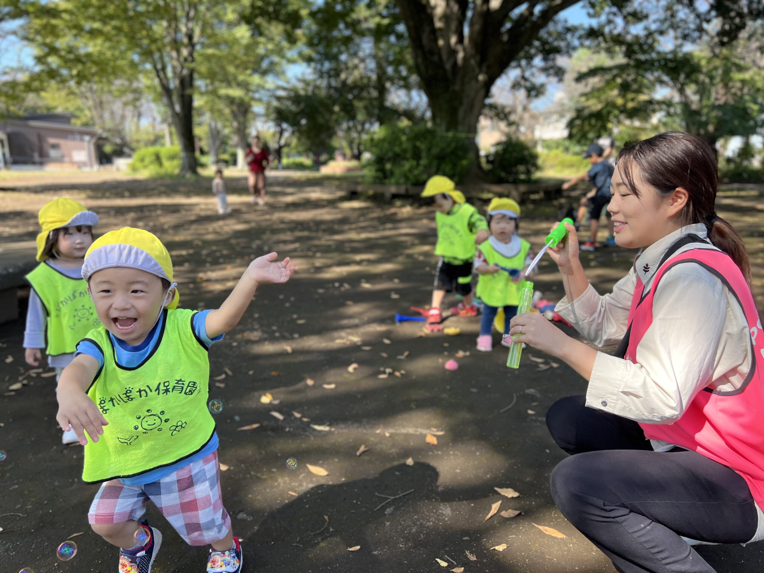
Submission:
[[[124,227],[109,231],[93,241],[85,254],[83,279],[88,280],[97,270],[111,267],[130,267],[155,274],[160,279],[173,282],[173,261],[170,253],[155,235],[141,228]],[[178,306],[180,294],[175,296],[168,309]]]

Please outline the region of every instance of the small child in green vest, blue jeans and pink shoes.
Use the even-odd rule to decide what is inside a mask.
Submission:
[[[517,235],[520,206],[512,199],[492,199],[488,205],[490,237],[478,246],[474,267],[478,277],[478,297],[483,301],[478,350],[490,352],[494,348],[491,325],[500,308],[504,309],[504,333],[501,344],[512,342],[507,338],[510,319],[517,313],[520,290],[523,287],[523,268],[533,261],[530,243]]]

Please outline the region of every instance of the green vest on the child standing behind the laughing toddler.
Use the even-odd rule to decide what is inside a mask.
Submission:
[[[26,276],[45,306],[48,356],[70,354],[77,342],[101,324],[85,279],[72,279],[44,262]]]

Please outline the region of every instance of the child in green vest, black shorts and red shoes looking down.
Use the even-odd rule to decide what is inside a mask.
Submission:
[[[475,244],[488,238],[488,224],[478,209],[465,202],[464,194],[454,188],[454,182],[448,177],[430,177],[422,197],[435,199],[435,224],[438,227],[435,254],[441,257],[435,270],[435,290],[432,291],[427,322],[430,325],[441,322],[443,297],[454,290],[463,298],[451,313],[476,316],[478,307],[472,304],[472,261]]]

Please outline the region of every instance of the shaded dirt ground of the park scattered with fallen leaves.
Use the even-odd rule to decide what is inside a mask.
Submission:
[[[395,324],[396,312],[429,303],[432,212],[408,202],[348,200],[331,182],[309,176],[271,178],[263,208],[249,204],[243,179],[229,186],[233,213],[219,217],[207,181],[4,180],[0,249],[34,239],[37,210],[66,195],[99,213],[99,234],[132,225],[160,236],[189,308],[219,306],[252,257],[275,250],[293,258],[293,279],[259,290],[238,327],[210,352],[210,396],[224,404],[215,418],[220,460],[228,465],[223,501],[246,571],[614,571],[549,494],[549,474],[565,454],[549,437],[545,412],[560,397],[584,393],[584,380],[532,349],[516,371],[505,366],[505,348],[478,354],[478,319],[452,319],[448,325],[461,329],[453,337],[422,336],[416,322]],[[559,206],[524,206],[522,235],[538,245]],[[745,235],[761,303],[764,192],[727,189],[717,211]],[[604,292],[633,255],[603,248],[583,260]],[[562,286],[555,268],[545,260],[535,282],[556,302]],[[23,316],[0,325],[0,449],[7,454],[0,464],[0,568],[110,573],[117,551],[87,523],[97,486],[80,479],[79,446],[60,443],[54,378],[28,374],[23,331]],[[458,371],[445,371],[457,356]],[[8,395],[19,380],[27,384]],[[262,403],[265,393],[279,402]],[[237,430],[254,423],[261,426]],[[437,444],[426,441],[428,433]],[[361,445],[370,449],[358,456]],[[286,467],[287,458],[296,469]],[[329,474],[312,474],[307,465]],[[520,497],[502,497],[494,487],[512,487]],[[500,510],[522,513],[484,521],[499,501]],[[154,571],[205,570],[206,548],[189,549],[156,510],[147,517],[164,536]],[[76,556],[58,562],[57,545],[74,534]],[[490,549],[500,544],[507,549]],[[700,552],[720,572],[764,570],[762,543]]]

